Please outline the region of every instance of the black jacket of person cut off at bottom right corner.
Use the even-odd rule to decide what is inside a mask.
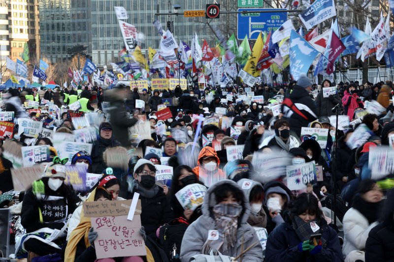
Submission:
[[[371,229],[365,244],[365,262],[394,261],[394,189],[387,193],[383,221]]]

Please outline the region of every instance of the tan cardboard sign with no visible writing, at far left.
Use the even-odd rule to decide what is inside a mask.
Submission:
[[[27,168],[11,169],[12,184],[15,191],[26,190],[32,186],[33,181],[42,177],[45,166],[35,165]]]

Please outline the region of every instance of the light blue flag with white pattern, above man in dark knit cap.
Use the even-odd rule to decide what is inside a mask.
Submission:
[[[306,74],[319,52],[314,49],[295,30],[290,34],[290,74],[293,80],[298,80],[301,73]]]

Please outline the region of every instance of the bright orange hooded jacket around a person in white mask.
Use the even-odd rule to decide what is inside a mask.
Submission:
[[[227,177],[226,177],[226,174],[223,172],[223,170],[221,170],[219,168],[220,159],[219,159],[218,154],[216,153],[215,149],[213,149],[210,146],[202,147],[200,153],[198,154],[197,167],[195,167],[193,169],[193,172],[197,175],[198,179],[201,182],[203,182],[206,186],[210,186],[209,181],[203,181],[203,180],[206,179],[207,175],[211,175],[211,174],[207,174],[207,173],[212,173],[212,172],[207,172],[204,169],[204,167],[202,167],[202,165],[201,165],[202,164],[202,158],[207,157],[207,156],[212,156],[212,157],[216,158],[216,161],[217,161],[216,172],[217,173],[213,174],[215,176],[215,178],[218,179],[218,180],[221,180],[221,179],[226,179]]]

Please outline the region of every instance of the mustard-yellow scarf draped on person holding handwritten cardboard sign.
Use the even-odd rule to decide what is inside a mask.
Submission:
[[[96,195],[96,189],[92,191],[86,202],[94,202],[95,195]],[[84,216],[83,207],[82,207],[81,219],[79,220],[79,224],[71,232],[70,238],[66,246],[65,261],[73,262],[75,260],[75,252],[77,251],[77,245],[82,237],[84,237],[86,248],[90,246],[88,234],[91,227],[92,224],[90,223],[90,217]]]

